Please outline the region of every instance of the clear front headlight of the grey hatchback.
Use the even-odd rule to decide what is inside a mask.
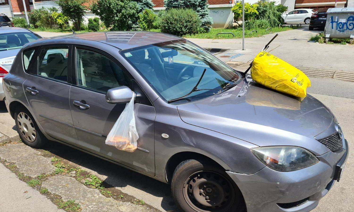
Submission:
[[[295,171],[319,161],[314,154],[301,147],[257,147],[251,149],[251,152],[276,171]]]

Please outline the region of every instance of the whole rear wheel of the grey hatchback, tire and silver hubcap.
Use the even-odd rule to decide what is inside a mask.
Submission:
[[[23,106],[15,109],[17,133],[23,143],[30,147],[40,148],[45,144],[46,137],[42,134],[32,114]]]

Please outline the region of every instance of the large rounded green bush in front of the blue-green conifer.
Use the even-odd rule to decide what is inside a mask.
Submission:
[[[200,18],[192,9],[172,8],[161,18],[161,31],[163,33],[177,36],[196,34],[200,27]]]

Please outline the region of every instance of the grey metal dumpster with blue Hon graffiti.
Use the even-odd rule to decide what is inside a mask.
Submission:
[[[331,38],[354,40],[354,7],[329,8],[325,27],[326,42]]]

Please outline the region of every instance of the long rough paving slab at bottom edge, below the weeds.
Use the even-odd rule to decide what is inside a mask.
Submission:
[[[82,212],[86,211],[117,211],[144,212],[148,211],[143,205],[130,202],[119,202],[103,196],[98,189],[88,188],[72,177],[56,175],[48,177],[42,183],[51,193],[61,195],[63,201],[75,200],[80,204]]]

